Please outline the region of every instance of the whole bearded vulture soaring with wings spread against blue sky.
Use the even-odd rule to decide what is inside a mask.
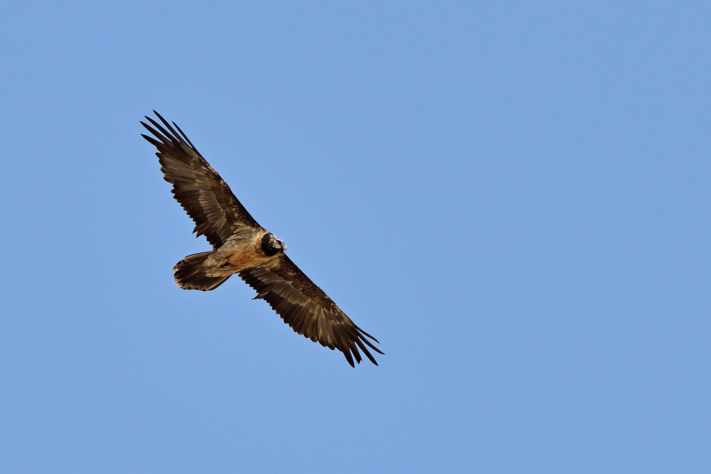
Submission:
[[[358,348],[375,362],[368,348],[383,354],[328,295],[316,286],[284,251],[287,245],[264,229],[232,194],[180,127],[153,111],[141,122],[153,136],[141,134],[156,146],[164,179],[173,196],[195,221],[193,233],[204,235],[213,249],[188,255],[173,267],[176,284],[184,290],[214,290],[233,274],[240,276],[296,333],[331,350],[338,349],[355,367]],[[178,131],[176,133],[176,130]],[[380,343],[378,343],[380,344]],[[367,347],[366,347],[367,346]]]

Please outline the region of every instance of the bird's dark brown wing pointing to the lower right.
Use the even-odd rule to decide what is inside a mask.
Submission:
[[[286,254],[279,255],[264,266],[242,270],[239,275],[257,291],[255,299],[267,301],[296,333],[331,350],[340,350],[352,367],[355,367],[353,357],[358,363],[362,360],[358,348],[363,350],[370,362],[378,365],[365,347],[367,345],[383,354],[368,338],[376,343],[378,340],[358,328]]]

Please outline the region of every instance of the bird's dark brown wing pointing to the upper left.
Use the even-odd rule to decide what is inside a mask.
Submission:
[[[146,117],[156,128],[144,122],[141,124],[158,140],[143,134],[141,136],[158,149],[156,156],[161,163],[164,179],[173,185],[172,193],[176,200],[195,221],[193,232],[207,237],[216,249],[227,241],[237,227],[244,225],[261,228],[180,127],[173,122],[180,132],[178,134],[166,119],[155,110],[153,112],[165,128],[151,117]]]

